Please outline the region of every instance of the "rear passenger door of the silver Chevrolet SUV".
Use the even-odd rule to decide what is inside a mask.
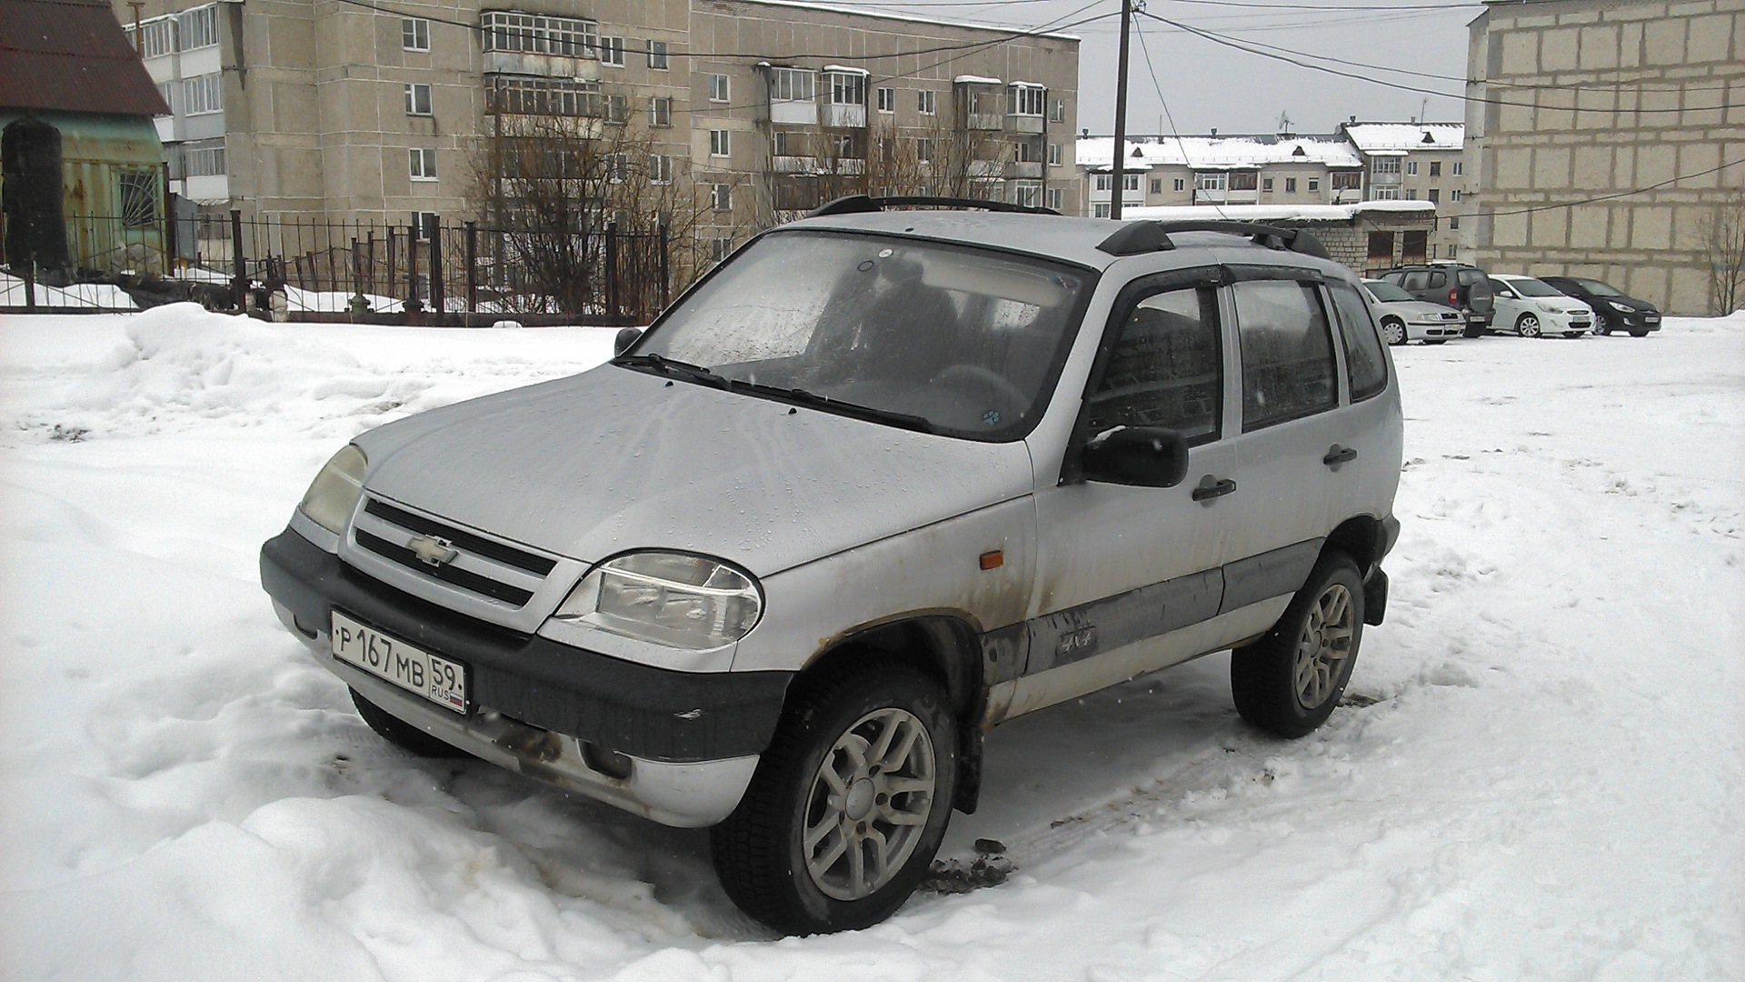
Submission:
[[[1356,479],[1352,461],[1363,454],[1365,426],[1340,411],[1349,393],[1321,274],[1286,267],[1232,273],[1241,407],[1228,423],[1237,430],[1230,437],[1235,488],[1218,613],[1258,633],[1277,620],[1314,568],[1337,521],[1333,501]],[[1379,449],[1372,456],[1379,458]]]

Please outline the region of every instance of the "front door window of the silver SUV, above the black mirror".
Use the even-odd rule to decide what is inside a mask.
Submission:
[[[1087,428],[1094,435],[1115,426],[1167,426],[1188,444],[1215,440],[1222,365],[1218,304],[1209,287],[1145,297],[1122,323],[1091,391]]]

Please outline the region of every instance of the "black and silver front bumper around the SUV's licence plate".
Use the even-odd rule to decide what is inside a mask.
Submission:
[[[279,620],[386,713],[475,757],[663,825],[705,826],[733,811],[775,734],[790,680],[778,671],[679,673],[518,634],[394,591],[295,531],[262,547],[260,580]],[[335,608],[464,664],[466,711],[335,659]],[[614,765],[602,771],[590,758]]]

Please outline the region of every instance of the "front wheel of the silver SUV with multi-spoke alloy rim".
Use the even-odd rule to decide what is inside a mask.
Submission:
[[[715,874],[778,931],[866,928],[909,898],[939,851],[956,720],[906,664],[799,685],[740,806],[710,832]]]

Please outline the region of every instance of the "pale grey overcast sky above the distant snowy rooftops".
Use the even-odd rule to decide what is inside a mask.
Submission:
[[[1115,129],[1115,54],[1120,0],[914,0],[913,3],[841,5],[986,24],[1068,24],[1084,38],[1078,49],[1078,126],[1092,133]],[[1441,5],[1445,9],[1410,9]],[[1366,7],[1366,9],[1354,9]],[[1080,10],[1082,12],[1073,12]],[[1319,54],[1461,79],[1466,70],[1466,24],[1482,7],[1459,0],[1148,0],[1146,12],[1215,31],[1251,45]],[[1127,80],[1127,133],[1169,133],[1164,101],[1181,133],[1272,133],[1290,114],[1298,133],[1330,133],[1356,115],[1366,121],[1461,122],[1461,101],[1342,79],[1242,51],[1146,17],[1134,17],[1145,38],[1133,40]],[[1157,84],[1146,70],[1157,73]],[[1274,51],[1277,54],[1277,51]],[[1380,73],[1352,65],[1340,72],[1391,82],[1459,93],[1461,82],[1417,75]],[[1159,87],[1162,98],[1159,98]],[[1426,101],[1427,100],[1427,101]]]

